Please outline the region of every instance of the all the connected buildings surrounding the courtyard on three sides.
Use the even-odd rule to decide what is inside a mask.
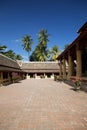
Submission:
[[[0,54],[0,85],[29,78],[54,78],[87,82],[87,22],[78,37],[57,57],[57,62],[14,61]],[[87,85],[86,85],[87,86]]]

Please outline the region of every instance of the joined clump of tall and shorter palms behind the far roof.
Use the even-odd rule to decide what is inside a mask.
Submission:
[[[30,55],[30,61],[56,61],[60,53],[59,47],[54,45],[48,49],[49,34],[46,29],[42,29],[38,34],[38,44]]]

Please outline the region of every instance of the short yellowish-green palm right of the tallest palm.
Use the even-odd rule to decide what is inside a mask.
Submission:
[[[60,53],[59,47],[57,45],[54,45],[50,50],[49,50],[49,57],[50,61],[56,61],[57,57]]]

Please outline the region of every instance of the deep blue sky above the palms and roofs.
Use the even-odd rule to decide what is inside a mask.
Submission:
[[[47,29],[51,35],[48,48],[60,50],[78,36],[77,30],[87,21],[87,0],[1,0],[0,45],[8,46],[27,59],[21,39],[26,34],[37,45],[37,34]]]

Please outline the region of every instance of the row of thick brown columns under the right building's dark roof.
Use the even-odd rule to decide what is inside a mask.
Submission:
[[[79,49],[78,44],[76,47],[75,60],[76,62],[74,61],[73,55],[71,55],[70,51],[67,53],[67,59],[63,56],[58,60],[60,67],[60,77],[62,77],[63,79],[70,79],[71,76],[76,76],[79,79],[82,76],[82,51]]]

